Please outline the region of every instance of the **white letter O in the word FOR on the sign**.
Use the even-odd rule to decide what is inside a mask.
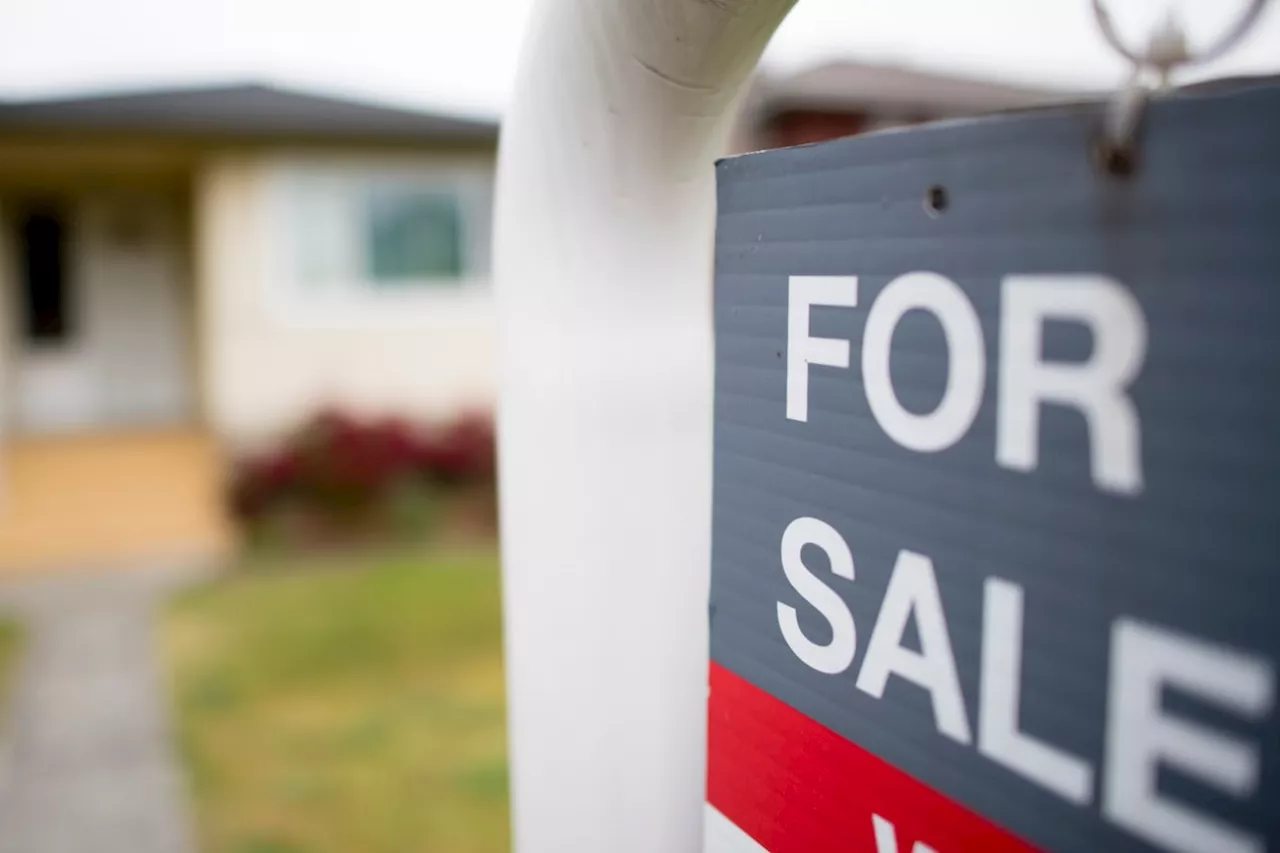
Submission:
[[[942,401],[927,415],[904,409],[890,378],[893,332],[906,313],[915,310],[928,311],[942,324],[947,343],[946,389]],[[863,384],[876,423],[890,438],[922,453],[951,447],[978,416],[986,380],[982,323],[955,282],[937,273],[908,273],[879,292],[863,332]]]

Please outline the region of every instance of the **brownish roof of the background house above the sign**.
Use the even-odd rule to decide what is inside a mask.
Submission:
[[[867,110],[973,115],[1079,100],[1084,93],[957,77],[891,65],[833,61],[781,79],[763,79],[756,102],[777,114],[788,109]]]

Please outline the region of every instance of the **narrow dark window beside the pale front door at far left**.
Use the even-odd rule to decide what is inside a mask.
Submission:
[[[55,206],[33,206],[17,225],[23,339],[36,346],[64,343],[72,333],[65,218]]]

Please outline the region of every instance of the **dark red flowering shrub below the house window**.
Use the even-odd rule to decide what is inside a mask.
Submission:
[[[493,423],[483,415],[425,426],[325,410],[274,451],[239,464],[230,505],[250,525],[288,508],[330,530],[376,528],[407,493],[492,491],[494,461]]]

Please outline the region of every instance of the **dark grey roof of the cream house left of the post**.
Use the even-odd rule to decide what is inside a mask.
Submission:
[[[0,101],[0,133],[6,132],[493,142],[498,124],[246,85]]]

